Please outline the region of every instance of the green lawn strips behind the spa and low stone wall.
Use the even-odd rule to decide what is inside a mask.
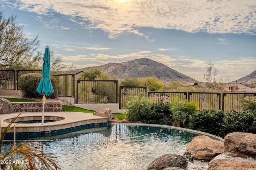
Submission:
[[[10,102],[37,102],[35,100],[27,100],[27,99],[15,99],[15,98],[4,98],[9,100]],[[76,106],[67,106],[62,105],[62,111],[74,111],[74,112],[84,112],[84,113],[94,113],[93,110],[87,110]],[[125,119],[125,114],[113,113],[119,120]]]

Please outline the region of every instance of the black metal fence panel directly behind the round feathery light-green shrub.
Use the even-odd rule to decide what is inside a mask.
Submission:
[[[147,86],[119,86],[119,109],[126,106],[130,96],[146,96]]]

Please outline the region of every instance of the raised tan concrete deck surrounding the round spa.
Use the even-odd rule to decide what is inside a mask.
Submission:
[[[2,131],[5,127],[8,126],[6,120],[12,119],[18,116],[19,113],[10,113],[0,115],[0,125]],[[16,121],[33,121],[38,120],[38,117],[41,120],[42,112],[23,112],[20,114]],[[95,116],[92,113],[81,113],[81,112],[70,112],[70,111],[61,111],[61,112],[44,112],[44,120],[55,119],[58,121],[52,121],[44,123],[16,123],[16,133],[31,133],[31,132],[45,132],[51,133],[52,131],[58,131],[62,129],[70,129],[73,127],[89,125],[94,123],[106,123],[106,117]],[[14,124],[12,124],[14,125]]]

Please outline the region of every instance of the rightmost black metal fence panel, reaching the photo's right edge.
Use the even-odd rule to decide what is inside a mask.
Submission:
[[[256,93],[222,93],[222,110],[241,112],[241,100],[250,98],[256,100]]]

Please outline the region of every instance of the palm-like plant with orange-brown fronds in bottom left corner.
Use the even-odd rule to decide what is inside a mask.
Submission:
[[[20,115],[20,114],[19,114]],[[18,115],[18,116],[19,116]],[[18,117],[17,116],[17,117]],[[34,147],[32,143],[20,143],[17,146],[12,146],[10,150],[2,153],[2,146],[4,136],[10,131],[13,126],[12,123],[17,119],[14,117],[9,125],[2,132],[0,127],[0,160],[1,170],[60,170],[60,165],[55,156],[52,154],[45,154],[40,147]],[[16,161],[17,158],[17,161]]]

